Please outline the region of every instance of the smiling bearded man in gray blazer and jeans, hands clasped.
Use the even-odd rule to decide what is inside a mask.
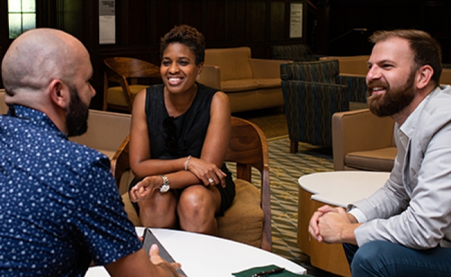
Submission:
[[[352,276],[451,276],[451,88],[441,48],[419,30],[376,32],[368,107],[395,120],[386,184],[343,208],[318,208],[309,233],[343,243]]]

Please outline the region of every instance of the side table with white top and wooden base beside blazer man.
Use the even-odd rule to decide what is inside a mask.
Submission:
[[[314,211],[329,204],[346,208],[364,199],[385,184],[389,172],[335,171],[304,175],[298,179],[298,246],[314,267],[341,276],[350,276],[341,244],[325,244],[312,239],[308,226]]]

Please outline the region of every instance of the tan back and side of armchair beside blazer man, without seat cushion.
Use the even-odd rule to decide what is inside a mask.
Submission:
[[[375,116],[369,109],[334,114],[332,116],[334,170],[344,170],[344,159],[350,152],[392,147],[393,127],[393,119]]]

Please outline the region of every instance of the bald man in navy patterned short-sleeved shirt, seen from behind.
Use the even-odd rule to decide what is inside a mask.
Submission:
[[[0,275],[178,276],[142,249],[105,155],[72,143],[87,129],[95,91],[86,48],[60,30],[12,42],[1,64],[8,114],[0,116]]]

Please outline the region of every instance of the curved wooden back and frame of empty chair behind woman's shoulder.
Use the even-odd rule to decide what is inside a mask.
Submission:
[[[105,64],[105,75],[103,81],[103,110],[112,109],[132,110],[133,93],[130,86],[137,84],[138,78],[160,78],[160,67],[131,57],[107,57],[103,60]],[[127,106],[117,107],[108,103],[109,82],[116,82],[122,88]]]

